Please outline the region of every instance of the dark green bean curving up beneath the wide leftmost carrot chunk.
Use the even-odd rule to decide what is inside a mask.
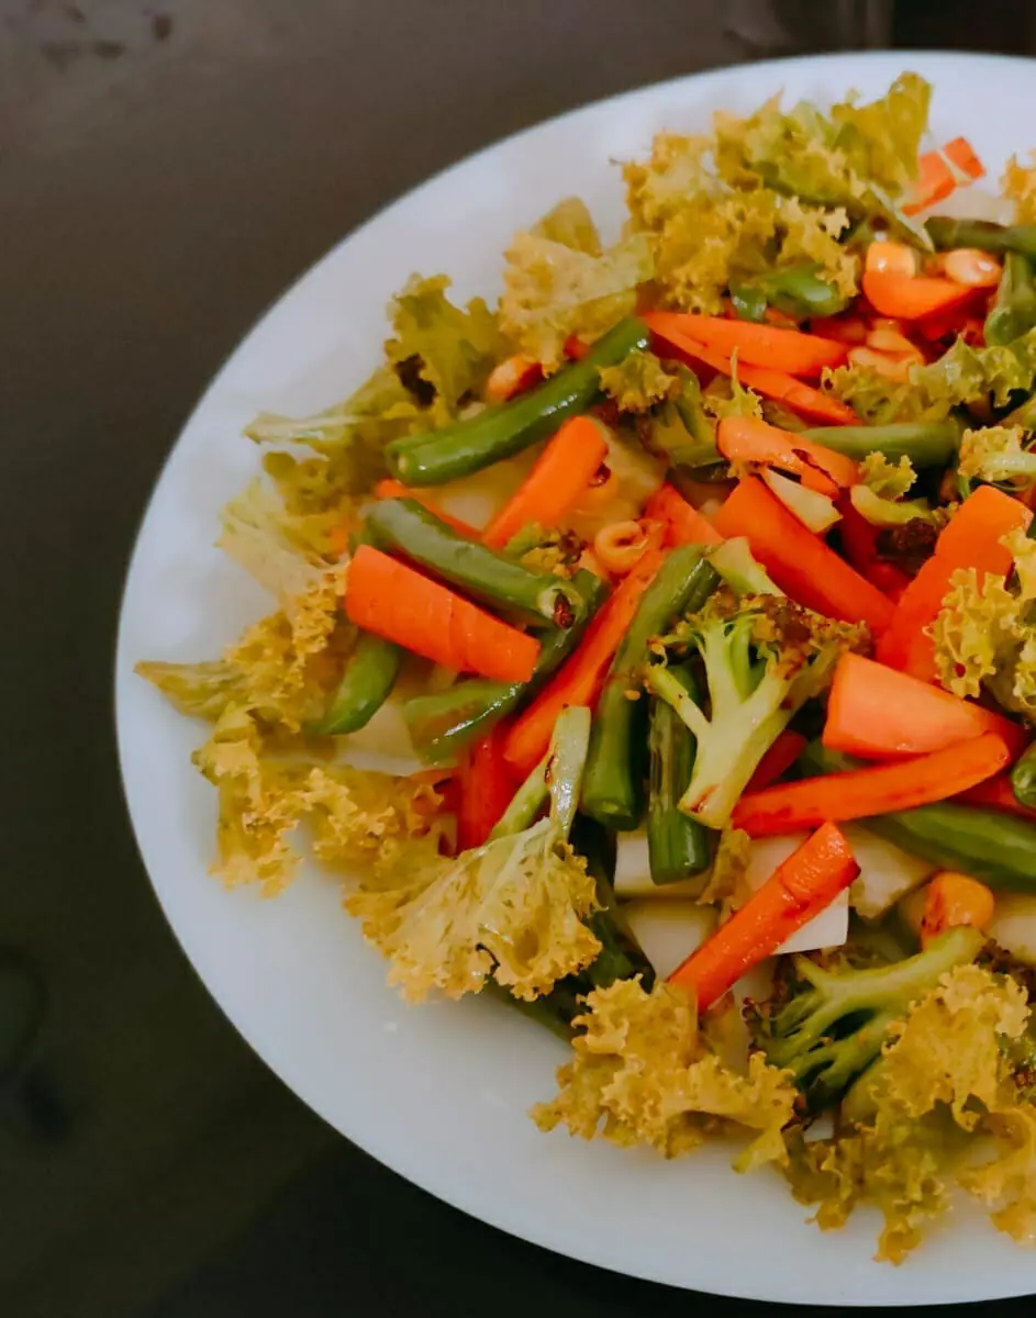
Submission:
[[[571,627],[554,627],[542,638],[532,680],[527,684],[471,677],[448,691],[415,696],[403,705],[403,718],[418,754],[431,763],[457,757],[476,737],[484,735],[522,700],[534,695],[576,648],[601,606],[608,588],[592,572],[573,577],[585,601],[585,610]]]

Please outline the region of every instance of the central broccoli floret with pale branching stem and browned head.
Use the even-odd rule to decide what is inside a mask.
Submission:
[[[680,809],[706,828],[725,828],[778,734],[824,691],[841,655],[865,639],[866,629],[822,618],[784,596],[738,598],[728,588],[677,625],[663,645],[700,655],[708,714],[663,664],[650,667],[645,680],[697,741]]]

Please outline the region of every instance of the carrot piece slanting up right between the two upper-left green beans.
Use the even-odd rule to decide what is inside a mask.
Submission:
[[[589,416],[567,420],[485,529],[484,543],[500,550],[530,522],[556,526],[579,502],[606,456],[608,440],[594,420]]]

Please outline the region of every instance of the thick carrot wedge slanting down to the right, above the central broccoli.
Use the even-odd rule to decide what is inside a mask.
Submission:
[[[755,476],[738,482],[716,514],[725,539],[746,535],[755,558],[792,600],[844,622],[883,631],[894,608],[877,587],[808,531]]]

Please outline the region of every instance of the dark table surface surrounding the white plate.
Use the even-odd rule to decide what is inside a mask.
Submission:
[[[121,577],[221,358],[413,183],[697,69],[866,45],[1029,50],[1031,9],[0,0],[4,1318],[762,1307],[469,1220],[252,1056],[165,927],[124,816],[109,709]]]

